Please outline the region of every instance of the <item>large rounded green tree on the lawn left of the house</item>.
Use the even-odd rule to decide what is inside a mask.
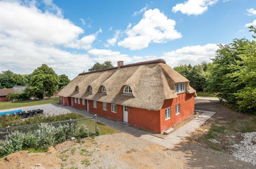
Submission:
[[[30,94],[37,98],[50,97],[57,91],[58,75],[46,64],[33,71],[30,78]]]

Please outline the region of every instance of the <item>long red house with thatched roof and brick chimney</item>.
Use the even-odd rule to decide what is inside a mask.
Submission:
[[[193,114],[196,91],[157,59],[81,73],[58,95],[61,104],[162,133]]]

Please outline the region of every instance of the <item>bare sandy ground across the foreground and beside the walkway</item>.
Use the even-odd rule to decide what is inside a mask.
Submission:
[[[232,113],[219,103],[196,102],[196,109],[216,111],[215,119]],[[213,107],[213,108],[212,108]],[[222,110],[223,109],[223,110]],[[227,114],[229,115],[227,115]],[[207,121],[197,132],[207,131]],[[194,135],[197,137],[197,135]],[[40,166],[35,166],[40,164]],[[126,133],[86,139],[84,143],[65,141],[46,153],[13,153],[0,160],[0,168],[255,168],[232,155],[207,149],[189,139],[169,150],[153,142]]]

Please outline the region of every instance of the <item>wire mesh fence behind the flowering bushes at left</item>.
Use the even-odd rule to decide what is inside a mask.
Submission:
[[[61,125],[66,124],[74,124],[75,128],[78,129],[81,125],[85,125],[89,132],[96,132],[97,128],[97,120],[96,115],[92,118],[81,118],[81,119],[70,119],[65,121],[54,121],[54,122],[48,122],[48,123],[39,123],[39,124],[28,124],[28,125],[21,125],[21,126],[8,126],[7,128],[0,128],[0,141],[5,141],[7,136],[10,135],[13,132],[20,132],[20,133],[33,133],[36,134],[36,132],[40,129],[41,125],[48,124],[52,125],[55,128]]]

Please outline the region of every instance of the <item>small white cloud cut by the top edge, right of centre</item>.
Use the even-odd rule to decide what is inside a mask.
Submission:
[[[176,13],[181,11],[183,14],[187,15],[199,15],[204,13],[208,6],[214,5],[219,0],[188,0],[181,4],[176,4],[172,7],[172,12]]]

